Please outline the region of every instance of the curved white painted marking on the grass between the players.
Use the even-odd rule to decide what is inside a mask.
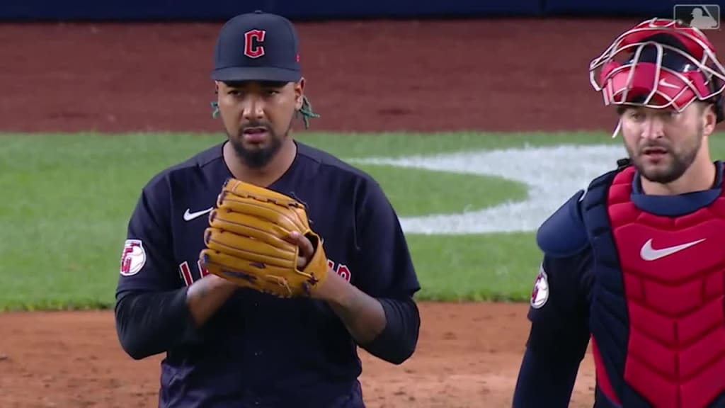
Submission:
[[[558,145],[347,161],[499,176],[526,185],[526,200],[508,200],[480,211],[400,218],[406,234],[443,235],[535,231],[568,197],[615,168],[616,160],[623,157],[626,151],[621,146]]]

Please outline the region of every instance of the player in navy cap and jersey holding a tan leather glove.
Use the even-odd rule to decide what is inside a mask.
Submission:
[[[364,407],[357,347],[400,364],[421,324],[397,215],[370,176],[293,139],[316,115],[289,20],[234,17],[214,62],[227,140],[142,189],[121,346],[166,354],[159,407]]]

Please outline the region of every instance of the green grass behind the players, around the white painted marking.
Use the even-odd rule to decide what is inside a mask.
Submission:
[[[471,151],[526,144],[621,143],[607,134],[302,134],[341,158]],[[713,138],[722,157],[725,143]],[[0,310],[112,305],[125,227],[141,187],[220,135],[0,134]],[[485,208],[526,196],[495,177],[359,166],[399,215]],[[539,264],[533,233],[410,234],[421,300],[528,298]]]

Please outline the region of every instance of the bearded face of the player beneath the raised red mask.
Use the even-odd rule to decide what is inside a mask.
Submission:
[[[679,179],[700,155],[703,137],[715,126],[715,113],[701,103],[682,112],[650,107],[627,107],[621,130],[629,157],[645,179],[668,184]],[[705,145],[706,146],[706,145]]]

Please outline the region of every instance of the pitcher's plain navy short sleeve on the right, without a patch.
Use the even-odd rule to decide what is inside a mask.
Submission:
[[[357,195],[355,285],[378,298],[413,296],[421,286],[397,213],[376,181]]]

